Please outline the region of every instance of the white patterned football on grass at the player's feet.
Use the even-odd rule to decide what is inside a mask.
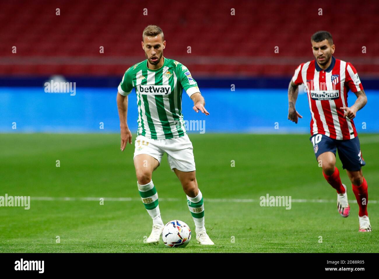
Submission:
[[[185,222],[172,220],[164,226],[162,240],[168,247],[185,247],[191,240],[191,229]]]

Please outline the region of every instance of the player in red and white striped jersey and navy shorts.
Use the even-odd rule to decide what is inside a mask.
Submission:
[[[298,86],[304,84],[312,115],[310,141],[323,168],[324,178],[337,190],[338,211],[341,216],[348,217],[350,206],[347,188],[341,183],[335,166],[336,150],[359,205],[359,232],[371,232],[367,182],[362,174],[362,166],[366,163],[353,121],[357,111],[367,103],[367,97],[354,66],[333,57],[335,45],[329,32],[316,32],[311,43],[315,60],[299,65],[288,87],[288,119],[298,123],[298,118],[302,118],[295,109],[295,103]],[[348,106],[349,90],[357,96],[351,107]]]

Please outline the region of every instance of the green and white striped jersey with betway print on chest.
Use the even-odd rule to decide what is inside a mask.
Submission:
[[[133,89],[137,94],[137,134],[150,139],[172,139],[185,136],[182,114],[182,91],[188,96],[200,92],[186,66],[164,58],[157,70],[147,68],[147,60],[127,69],[118,87],[127,96]]]

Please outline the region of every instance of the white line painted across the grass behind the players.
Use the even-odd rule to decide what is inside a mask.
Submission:
[[[43,201],[96,201],[98,202],[101,197],[31,197],[31,200],[43,200]],[[108,202],[132,202],[132,201],[141,201],[140,198],[103,198],[104,201]],[[176,198],[159,198],[162,202],[179,202],[185,199],[176,199]],[[205,202],[236,202],[236,203],[259,203],[259,199],[204,199]],[[291,202],[295,203],[335,203],[336,200],[322,200],[322,199],[291,199]],[[349,200],[349,203],[355,203],[356,200]],[[369,203],[378,203],[377,200],[368,200]]]

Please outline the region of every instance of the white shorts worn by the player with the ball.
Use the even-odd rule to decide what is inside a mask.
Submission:
[[[134,157],[139,154],[148,154],[157,159],[160,164],[165,152],[172,171],[174,168],[182,172],[196,170],[193,146],[188,135],[161,140],[149,139],[140,135],[135,140]]]

